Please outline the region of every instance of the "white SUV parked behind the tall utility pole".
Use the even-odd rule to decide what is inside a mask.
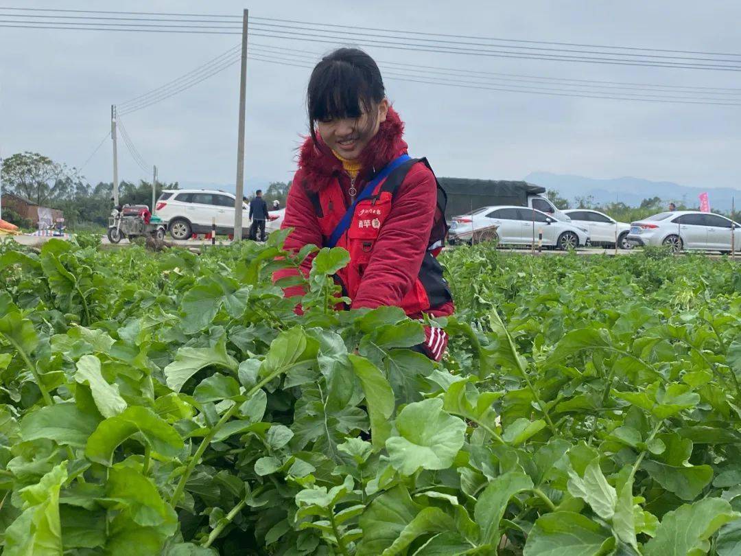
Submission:
[[[173,239],[189,239],[192,234],[207,234],[216,219],[217,234],[233,234],[233,193],[210,189],[167,189],[157,199],[156,216],[167,222]],[[247,237],[250,214],[242,203],[242,237]]]

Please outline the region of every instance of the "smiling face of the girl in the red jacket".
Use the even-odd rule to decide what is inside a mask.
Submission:
[[[347,160],[359,158],[363,149],[378,133],[388,114],[388,100],[382,99],[364,111],[359,118],[335,118],[316,122],[316,130],[322,141],[334,152]]]

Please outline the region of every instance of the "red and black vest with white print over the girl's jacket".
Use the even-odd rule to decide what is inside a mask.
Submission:
[[[337,282],[342,285],[343,294],[350,299],[355,298],[365,268],[371,262],[371,257],[377,255],[374,252],[376,240],[382,231],[385,219],[391,213],[396,189],[402,184],[407,172],[416,162],[422,162],[429,168],[427,159],[411,159],[391,172],[386,179],[376,185],[373,194],[368,199],[358,202],[348,230],[342,234],[336,244],[337,247],[345,248],[350,253],[350,264],[336,274]],[[428,251],[422,259],[417,279],[400,305],[408,315],[423,313],[452,300],[448,283],[442,277],[442,266],[436,260],[448,231],[445,222],[447,196],[439,183],[437,191],[438,202]],[[339,179],[334,179],[319,193],[309,193],[309,198],[313,203],[322,236],[328,239],[347,211]]]

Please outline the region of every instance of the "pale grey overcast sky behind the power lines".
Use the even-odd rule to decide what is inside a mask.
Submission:
[[[741,3],[731,1],[10,1],[19,7],[233,13],[251,16],[587,44],[741,54]],[[257,41],[258,39],[254,39]],[[260,38],[330,50],[329,44]],[[110,105],[176,79],[239,36],[0,27],[2,156],[33,150],[80,166],[110,129]],[[339,44],[338,44],[339,46]],[[570,79],[741,89],[741,73],[513,60],[366,47],[376,59]],[[309,70],[250,60],[248,179],[287,181],[306,132]],[[385,79],[407,122],[411,154],[440,176],[521,179],[531,171],[637,176],[741,188],[741,107],[675,105],[502,93]],[[165,181],[232,183],[239,64],[124,116],[147,164]],[[741,98],[741,97],[737,97]],[[83,170],[112,178],[110,140]],[[119,141],[120,179],[150,179]]]

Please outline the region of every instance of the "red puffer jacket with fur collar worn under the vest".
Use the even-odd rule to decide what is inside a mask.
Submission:
[[[407,144],[402,139],[403,130],[404,124],[399,114],[389,108],[386,121],[382,122],[376,136],[363,150],[363,170],[355,184],[357,191],[363,190],[373,173],[407,152]],[[299,151],[299,170],[293,178],[286,202],[282,228],[293,228],[286,239],[286,249],[299,251],[310,243],[322,247],[325,235],[322,234],[317,216],[316,199],[322,191],[327,193],[329,188],[336,188],[336,182],[339,182],[345,206],[335,206],[333,210],[342,216],[350,205],[350,178],[343,170],[342,162],[328,147],[318,147],[308,137]],[[402,299],[417,282],[422,259],[428,251],[436,202],[434,174],[423,164],[413,165],[396,189],[391,211],[374,242],[371,257],[364,265],[362,279],[353,288],[356,291],[351,292],[352,308],[402,306]],[[302,271],[308,275],[310,268],[311,260],[308,259]],[[279,271],[273,278],[290,276],[291,272]],[[291,296],[302,294],[302,291],[294,287],[286,288],[285,293]],[[453,309],[453,302],[448,300],[424,312],[439,317],[452,314]],[[410,317],[419,316],[419,313],[410,313]]]

